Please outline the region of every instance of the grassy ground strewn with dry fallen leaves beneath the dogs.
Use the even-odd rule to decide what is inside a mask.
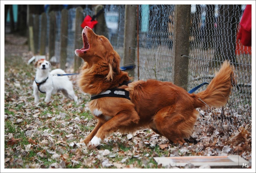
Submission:
[[[112,133],[97,148],[77,145],[97,122],[88,111],[90,95],[76,86],[74,75],[69,78],[78,95],[78,103],[56,94],[46,104],[45,95],[40,93],[40,103],[35,104],[32,83],[36,70],[33,64],[27,65],[31,57],[26,38],[6,36],[4,137],[1,136],[4,168],[171,168],[158,165],[153,157],[231,154],[251,162],[250,124],[241,124],[238,130],[225,125],[223,128],[196,125],[192,137],[186,139],[184,145],[169,143],[150,129],[132,134]],[[175,168],[196,167],[190,164]]]

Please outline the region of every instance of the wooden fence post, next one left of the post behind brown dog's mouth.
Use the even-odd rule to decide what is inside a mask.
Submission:
[[[60,26],[60,68],[66,68],[67,46],[68,46],[68,10],[61,10]]]

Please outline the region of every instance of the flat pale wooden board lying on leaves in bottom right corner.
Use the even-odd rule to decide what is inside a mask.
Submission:
[[[248,161],[239,155],[226,155],[226,156],[188,156],[188,157],[154,157],[156,162],[163,166],[185,166],[192,163],[195,166],[209,165],[218,167],[240,166],[245,168]]]

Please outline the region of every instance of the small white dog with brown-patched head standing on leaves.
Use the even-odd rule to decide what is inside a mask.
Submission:
[[[66,74],[61,69],[51,70],[50,62],[42,59],[38,60],[35,64],[36,77],[33,82],[35,103],[38,103],[38,91],[46,93],[44,101],[50,102],[52,94],[61,91],[69,99],[73,99],[77,102],[77,96],[74,93],[72,82],[68,79],[68,76],[57,76],[56,74]]]

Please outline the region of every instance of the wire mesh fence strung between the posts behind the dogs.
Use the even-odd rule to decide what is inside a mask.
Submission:
[[[251,47],[240,44],[236,39],[239,23],[246,5],[191,5],[190,51],[188,90],[210,82],[224,60],[234,64],[237,85],[233,87],[228,104],[221,109],[200,111],[198,125],[213,124],[216,127],[230,125],[238,129],[251,124]],[[139,5],[139,65],[134,69],[134,79],[156,79],[171,81],[174,41],[175,5]],[[75,9],[68,11],[67,62],[74,61],[74,20]],[[84,17],[93,16],[94,9],[84,8]],[[124,60],[125,5],[105,5],[106,36]],[[49,16],[47,16],[49,17]],[[61,13],[56,12],[55,58],[60,59]],[[178,21],[182,22],[182,21]],[[48,34],[47,34],[48,35]],[[81,38],[82,39],[82,38]],[[82,45],[81,45],[82,48]],[[131,48],[137,50],[137,48]],[[46,50],[47,51],[47,50]],[[197,92],[206,89],[200,88]]]

